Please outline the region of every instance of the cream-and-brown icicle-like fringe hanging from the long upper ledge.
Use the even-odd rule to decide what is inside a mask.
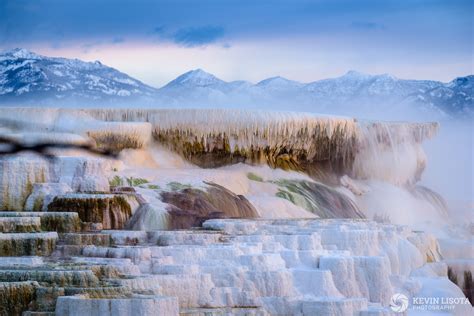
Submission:
[[[223,151],[247,157],[250,152],[268,149],[304,155],[307,160],[325,160],[345,156],[357,134],[352,118],[309,113],[228,109],[88,112],[106,121],[148,121],[155,138],[187,156]]]

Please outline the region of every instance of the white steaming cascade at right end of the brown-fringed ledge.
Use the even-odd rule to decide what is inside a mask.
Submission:
[[[354,193],[367,217],[400,224],[447,218],[443,198],[417,184],[427,163],[421,143],[437,128],[436,123],[418,129],[403,123],[360,123],[361,137],[349,172],[354,181],[342,184]]]

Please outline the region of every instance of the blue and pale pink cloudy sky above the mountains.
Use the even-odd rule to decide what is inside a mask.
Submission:
[[[0,0],[0,50],[100,60],[160,87],[348,70],[450,81],[474,73],[472,0]]]

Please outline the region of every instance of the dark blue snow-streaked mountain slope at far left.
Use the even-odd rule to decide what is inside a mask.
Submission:
[[[99,61],[45,57],[18,48],[0,54],[2,103],[100,104],[150,98],[154,93]]]

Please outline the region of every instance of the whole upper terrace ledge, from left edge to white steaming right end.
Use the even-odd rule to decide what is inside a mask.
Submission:
[[[311,113],[231,109],[4,108],[0,118],[31,118],[30,124],[51,124],[58,131],[90,131],[100,145],[133,148],[146,143],[151,129],[155,140],[202,167],[266,163],[314,175],[322,166],[397,184],[418,179],[424,166],[419,144],[437,130],[436,123],[359,123]]]

